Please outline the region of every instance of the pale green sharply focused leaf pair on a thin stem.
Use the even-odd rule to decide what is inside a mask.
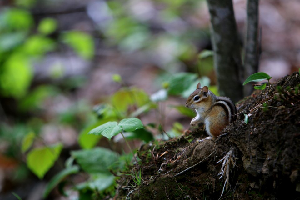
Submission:
[[[97,128],[92,129],[88,134],[103,135],[109,140],[122,131],[132,132],[139,128],[144,128],[143,123],[138,118],[122,119],[118,122],[107,122]]]

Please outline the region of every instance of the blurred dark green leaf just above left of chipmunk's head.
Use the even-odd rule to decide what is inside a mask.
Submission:
[[[191,87],[197,75],[194,73],[177,73],[169,81],[168,94],[179,95]],[[196,86],[195,86],[196,88]]]

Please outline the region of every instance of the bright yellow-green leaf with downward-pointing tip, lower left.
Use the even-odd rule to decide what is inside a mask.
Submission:
[[[47,171],[58,159],[63,145],[58,143],[49,147],[32,149],[27,155],[27,166],[39,179],[42,179]]]

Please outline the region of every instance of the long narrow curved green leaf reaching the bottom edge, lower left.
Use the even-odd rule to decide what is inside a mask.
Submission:
[[[46,198],[49,193],[53,190],[55,186],[58,185],[64,178],[70,174],[75,174],[79,172],[79,167],[77,165],[72,166],[71,168],[63,169],[61,172],[56,174],[47,184],[43,197]]]

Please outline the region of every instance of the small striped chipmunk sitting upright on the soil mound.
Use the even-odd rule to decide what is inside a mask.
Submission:
[[[222,129],[237,118],[237,108],[230,98],[218,97],[208,90],[207,86],[201,88],[200,83],[188,97],[185,106],[194,108],[197,113],[191,125],[203,122],[208,135],[212,138],[219,136]]]

